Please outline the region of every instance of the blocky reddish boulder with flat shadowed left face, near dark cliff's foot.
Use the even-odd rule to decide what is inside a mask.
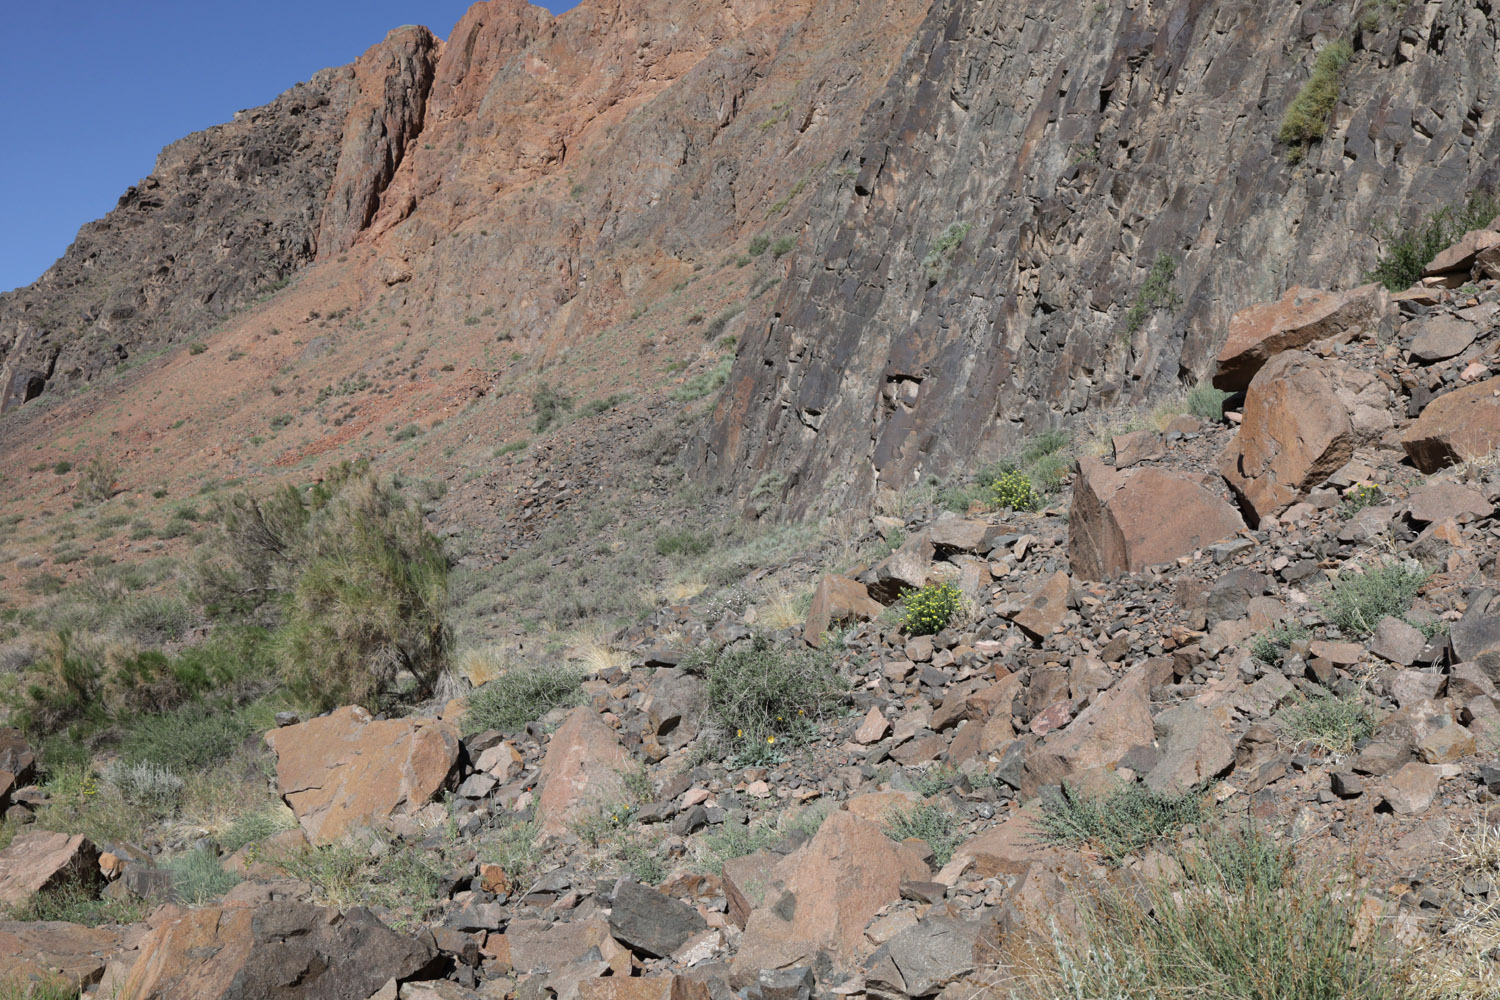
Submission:
[[[1239,513],[1206,483],[1206,477],[1149,466],[1120,472],[1083,459],[1068,517],[1072,576],[1101,580],[1136,573],[1244,531]]]

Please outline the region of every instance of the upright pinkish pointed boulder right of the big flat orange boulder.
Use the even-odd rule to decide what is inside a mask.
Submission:
[[[594,709],[568,712],[542,759],[537,814],[543,837],[561,837],[590,813],[626,801],[630,759]]]

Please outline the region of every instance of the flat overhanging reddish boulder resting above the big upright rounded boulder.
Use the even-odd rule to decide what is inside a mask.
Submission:
[[[1248,388],[1256,372],[1282,351],[1376,322],[1388,307],[1389,297],[1380,285],[1346,292],[1299,285],[1274,303],[1240,309],[1228,321],[1214,384],[1230,391]]]

